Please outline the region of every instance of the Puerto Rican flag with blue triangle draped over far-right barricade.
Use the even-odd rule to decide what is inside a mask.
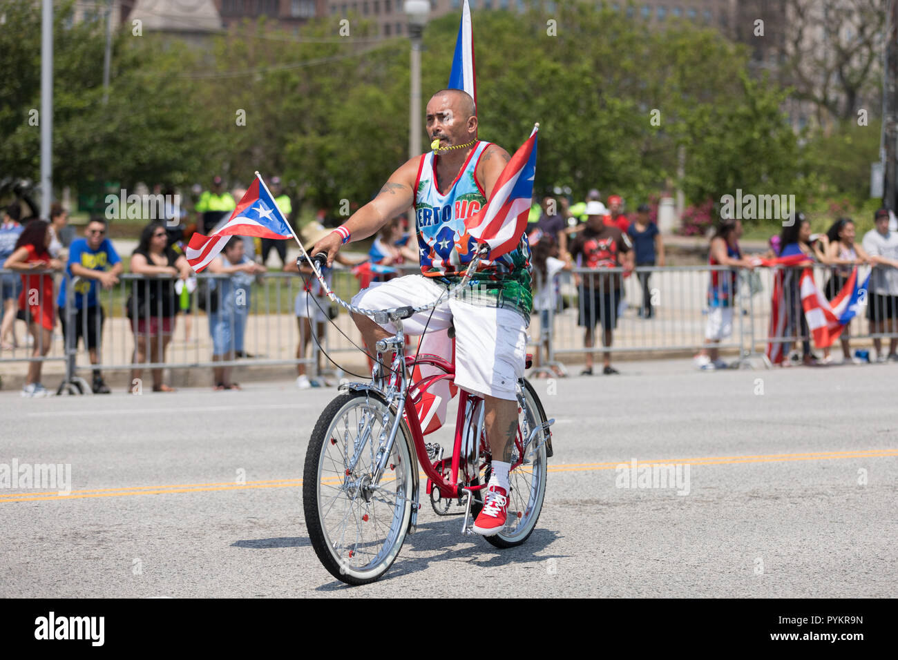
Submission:
[[[858,282],[858,268],[851,271],[845,286],[831,301],[826,300],[814,283],[814,273],[805,268],[801,274],[801,304],[805,309],[807,327],[814,336],[817,348],[828,348],[839,338],[842,330],[860,312],[860,300],[866,298],[867,284]]]

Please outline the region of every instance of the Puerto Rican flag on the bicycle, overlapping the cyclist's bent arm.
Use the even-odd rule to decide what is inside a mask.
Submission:
[[[527,228],[536,176],[536,131],[539,128],[539,124],[533,127],[533,133],[506,163],[487,205],[464,221],[467,233],[478,242],[489,245],[489,260],[515,250]]]

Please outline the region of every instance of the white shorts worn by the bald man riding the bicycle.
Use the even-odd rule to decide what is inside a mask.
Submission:
[[[362,309],[385,310],[405,305],[431,303],[445,286],[422,275],[375,282],[353,297]],[[431,315],[431,312],[433,314]],[[429,322],[428,322],[429,319]],[[402,321],[406,334],[421,335],[455,326],[455,384],[474,394],[516,400],[516,385],[524,377],[527,330],[517,312],[481,307],[450,298],[434,310],[418,312]],[[384,330],[395,332],[392,323]]]

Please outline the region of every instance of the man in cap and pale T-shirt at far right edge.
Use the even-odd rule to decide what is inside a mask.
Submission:
[[[889,212],[880,208],[874,215],[874,229],[864,235],[864,250],[870,256],[873,272],[867,296],[870,334],[898,333],[898,233],[889,231]],[[889,339],[889,354],[883,352],[883,339],[873,339],[877,362],[898,360],[898,336]]]

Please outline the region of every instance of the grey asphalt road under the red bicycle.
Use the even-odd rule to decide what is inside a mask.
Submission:
[[[333,390],[4,392],[0,478],[13,461],[68,463],[72,492],[0,488],[0,596],[898,594],[898,365],[619,366],[536,382],[556,453],[524,546],[463,537],[425,504],[392,569],[355,588],[321,567],[302,513],[305,445]],[[688,466],[688,494],[622,488],[633,459],[683,480]]]

